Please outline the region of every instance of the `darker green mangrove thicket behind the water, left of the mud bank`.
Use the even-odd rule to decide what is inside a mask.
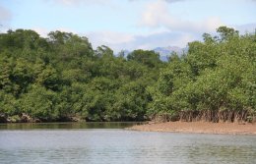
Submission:
[[[86,37],[32,30],[0,34],[0,116],[9,121],[147,119],[147,87],[164,63],[153,51],[128,59]]]

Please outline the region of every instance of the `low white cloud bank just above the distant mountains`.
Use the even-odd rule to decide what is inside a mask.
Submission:
[[[191,33],[157,31],[146,34],[129,34],[114,31],[99,31],[85,34],[89,37],[94,48],[99,45],[109,46],[115,53],[126,49],[154,49],[156,47],[179,46],[185,47],[189,41],[200,38]]]

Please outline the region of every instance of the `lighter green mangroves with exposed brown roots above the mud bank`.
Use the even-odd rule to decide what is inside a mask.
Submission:
[[[189,43],[186,56],[172,56],[151,87],[151,116],[173,120],[254,121],[256,35],[219,27],[218,36]]]

